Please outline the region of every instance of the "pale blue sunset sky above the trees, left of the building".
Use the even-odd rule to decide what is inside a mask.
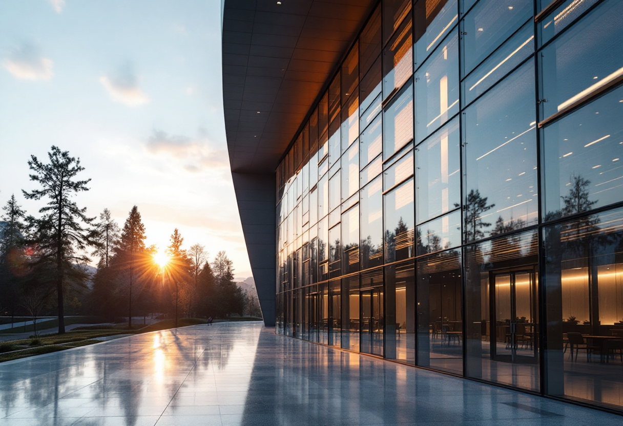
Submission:
[[[219,0],[0,1],[0,204],[28,213],[31,154],[79,157],[91,216],[138,206],[146,243],[225,250],[251,275],[229,171]]]

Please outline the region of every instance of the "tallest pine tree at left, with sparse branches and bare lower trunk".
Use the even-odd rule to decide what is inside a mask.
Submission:
[[[84,170],[80,159],[69,156],[69,151],[60,151],[52,146],[47,154],[49,164],[41,163],[32,155],[28,161],[29,168],[34,172],[31,181],[38,182],[41,189],[22,191],[26,199],[40,200],[47,198],[49,202],[39,209],[39,219],[30,218],[36,230],[35,242],[40,251],[37,263],[53,263],[53,281],[56,287],[59,314],[59,334],[65,333],[64,291],[63,285],[68,278],[80,281],[80,273],[72,263],[87,263],[90,259],[83,254],[87,247],[97,247],[97,230],[92,224],[95,217],[86,215],[86,207],[78,207],[71,197],[82,191],[88,191],[85,181],[75,180],[78,173]]]

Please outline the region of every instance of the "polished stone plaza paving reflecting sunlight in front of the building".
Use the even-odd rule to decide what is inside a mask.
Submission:
[[[277,336],[139,334],[0,364],[0,425],[617,425],[623,417]]]

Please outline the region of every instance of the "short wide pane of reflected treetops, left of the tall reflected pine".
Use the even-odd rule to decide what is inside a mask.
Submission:
[[[416,234],[418,255],[461,245],[461,211],[456,210],[419,225]]]

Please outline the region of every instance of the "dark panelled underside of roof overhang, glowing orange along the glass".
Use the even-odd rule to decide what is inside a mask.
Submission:
[[[274,173],[377,0],[224,0],[223,103],[233,173]]]

